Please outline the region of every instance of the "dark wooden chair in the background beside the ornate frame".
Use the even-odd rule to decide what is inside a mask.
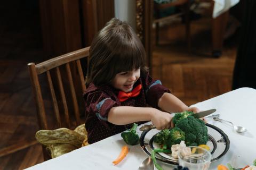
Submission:
[[[164,10],[166,8],[170,7],[180,7],[181,12],[174,13],[169,16],[165,16],[163,18],[159,18],[159,11]],[[166,20],[172,20],[174,18],[178,18],[181,15],[185,16],[185,24],[186,24],[186,40],[187,40],[187,48],[188,51],[190,51],[190,20],[189,20],[189,7],[190,7],[190,1],[189,0],[178,0],[171,3],[166,4],[157,4],[154,3],[154,11],[155,11],[155,19],[153,20],[153,23],[156,24],[156,45],[158,45],[159,41],[159,22],[166,21]]]

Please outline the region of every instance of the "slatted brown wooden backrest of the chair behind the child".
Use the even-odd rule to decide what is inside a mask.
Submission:
[[[50,115],[51,121],[54,118],[54,122],[51,122],[54,124],[54,129],[63,127],[72,129],[81,124],[80,115],[82,113],[79,111],[81,108],[79,108],[78,102],[80,101],[80,105],[84,107],[82,96],[86,87],[83,70],[87,68],[89,48],[90,47],[79,49],[75,52],[64,54],[39,64],[28,64],[40,129],[50,129]],[[86,64],[81,65],[81,60],[84,60],[83,58]],[[84,67],[86,68],[84,69]],[[39,81],[39,75],[42,75],[47,81]],[[44,83],[43,92],[42,83]],[[49,88],[46,89],[45,84],[47,84]],[[51,106],[49,106],[49,100],[45,102],[46,99],[44,99],[44,97],[46,92],[49,92],[48,99],[51,98],[52,100]],[[70,104],[73,106],[70,107]],[[45,106],[47,109],[45,109]],[[53,114],[48,113],[49,107],[52,108]]]

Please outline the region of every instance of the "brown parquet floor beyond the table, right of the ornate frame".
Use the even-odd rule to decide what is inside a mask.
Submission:
[[[190,54],[180,24],[163,27],[160,45],[153,50],[153,77],[187,105],[231,90],[238,34],[225,41],[220,58],[213,58],[210,22],[209,18],[192,22]]]

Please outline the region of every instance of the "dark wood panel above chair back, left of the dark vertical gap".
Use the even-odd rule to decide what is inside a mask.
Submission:
[[[78,0],[40,0],[41,28],[47,56],[82,48]]]

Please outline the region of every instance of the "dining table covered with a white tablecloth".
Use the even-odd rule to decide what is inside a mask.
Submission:
[[[238,133],[234,131],[231,124],[214,121],[211,115],[206,117],[207,123],[221,129],[227,134],[230,142],[225,155],[212,162],[209,169],[217,169],[219,164],[227,166],[228,163],[235,168],[252,165],[253,160],[256,159],[255,89],[239,88],[191,106],[198,107],[201,111],[215,108],[217,111],[213,114],[219,114],[223,120],[247,129],[246,132]],[[140,126],[137,129],[139,136],[141,135]],[[129,153],[122,162],[117,165],[112,163],[124,145],[126,143],[119,133],[27,169],[138,169],[143,160],[148,157],[140,145],[129,145]],[[158,163],[163,169],[173,169],[176,166],[161,161]]]

